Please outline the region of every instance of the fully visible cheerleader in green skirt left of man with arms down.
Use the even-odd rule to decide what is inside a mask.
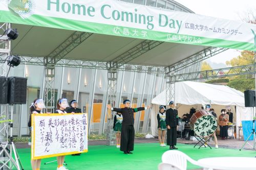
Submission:
[[[158,122],[158,140],[160,142],[160,147],[165,147],[164,139],[166,133],[166,123],[165,123],[165,108],[164,106],[159,107],[159,113],[157,114],[157,122]]]

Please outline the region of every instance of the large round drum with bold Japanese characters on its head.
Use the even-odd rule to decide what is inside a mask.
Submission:
[[[206,110],[200,110],[190,118],[190,127],[196,135],[208,137],[217,130],[217,119],[214,115]]]

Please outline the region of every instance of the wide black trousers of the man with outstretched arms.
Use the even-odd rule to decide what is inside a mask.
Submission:
[[[120,151],[123,151],[123,152],[133,151],[134,135],[135,135],[134,127],[132,125],[122,126]]]

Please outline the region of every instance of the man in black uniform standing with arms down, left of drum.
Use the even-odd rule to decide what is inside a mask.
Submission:
[[[170,108],[166,110],[166,127],[167,127],[167,145],[170,150],[178,149],[175,147],[177,143],[177,129],[179,125],[178,110],[175,109],[174,101],[170,101]]]

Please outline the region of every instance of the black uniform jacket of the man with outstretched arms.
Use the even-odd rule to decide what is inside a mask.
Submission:
[[[122,126],[125,125],[134,125],[134,112],[145,110],[144,107],[138,108],[113,108],[113,111],[121,113],[123,116]]]

